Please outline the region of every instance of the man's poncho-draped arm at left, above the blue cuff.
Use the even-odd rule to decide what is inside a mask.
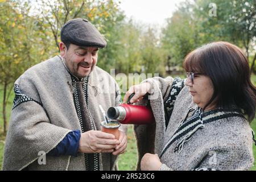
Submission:
[[[20,100],[16,100],[20,101]],[[6,136],[3,170],[21,170],[48,153],[71,130],[52,125],[38,102],[24,98],[11,111]]]

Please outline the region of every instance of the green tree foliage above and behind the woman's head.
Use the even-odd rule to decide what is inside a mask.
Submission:
[[[216,4],[216,16],[209,14],[211,3]],[[167,61],[172,65],[181,65],[185,55],[192,49],[222,40],[245,49],[253,66],[256,56],[256,1],[182,2],[172,18],[167,20],[167,27],[162,32],[162,46],[171,57]]]

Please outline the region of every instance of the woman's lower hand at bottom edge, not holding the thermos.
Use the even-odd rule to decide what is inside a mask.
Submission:
[[[158,171],[162,163],[157,154],[145,154],[141,159],[142,171]]]

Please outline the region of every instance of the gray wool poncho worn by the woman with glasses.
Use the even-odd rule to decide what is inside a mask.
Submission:
[[[149,78],[156,123],[135,125],[139,159],[158,154],[160,170],[247,170],[253,166],[253,135],[237,109],[201,111],[179,78]]]

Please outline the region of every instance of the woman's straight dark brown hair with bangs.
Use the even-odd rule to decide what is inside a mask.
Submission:
[[[240,48],[228,42],[209,43],[190,52],[183,67],[212,80],[214,92],[207,106],[213,101],[217,107],[236,106],[249,122],[254,119],[256,88],[251,84],[249,63]]]

